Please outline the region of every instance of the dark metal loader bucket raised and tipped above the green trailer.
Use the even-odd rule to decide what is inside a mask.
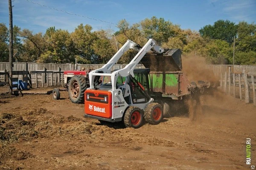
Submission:
[[[147,53],[141,59],[150,71],[181,71],[181,51],[179,48],[166,49],[163,54]]]

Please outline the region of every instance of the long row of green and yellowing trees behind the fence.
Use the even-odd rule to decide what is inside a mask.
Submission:
[[[45,34],[29,29],[13,28],[14,61],[106,63],[129,39],[143,46],[154,38],[163,48],[180,48],[183,54],[201,55],[212,64],[256,64],[256,24],[242,21],[218,20],[198,31],[182,29],[164,18],[151,17],[130,24],[120,20],[118,31],[97,30],[80,24],[73,32],[49,27]],[[9,30],[0,23],[0,61],[9,59]],[[131,61],[137,51],[128,50],[118,61]]]

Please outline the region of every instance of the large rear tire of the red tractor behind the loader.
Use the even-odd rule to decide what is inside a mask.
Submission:
[[[68,95],[73,103],[84,103],[84,91],[87,88],[87,81],[84,76],[75,75],[70,79]]]

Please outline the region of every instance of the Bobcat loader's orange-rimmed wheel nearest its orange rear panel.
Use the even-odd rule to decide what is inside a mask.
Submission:
[[[143,112],[140,108],[129,107],[124,113],[125,127],[139,128],[143,125]]]

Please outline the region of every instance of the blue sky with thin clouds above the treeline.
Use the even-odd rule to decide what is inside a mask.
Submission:
[[[35,3],[96,18],[111,23],[126,19],[130,24],[152,16],[163,17],[181,28],[198,31],[217,20],[235,23],[256,21],[256,0],[30,0]],[[109,23],[70,15],[39,6],[27,0],[13,0],[13,24],[34,33],[45,32],[50,26],[70,32],[80,24],[93,30],[117,28]],[[9,26],[8,0],[0,0],[0,23]]]

